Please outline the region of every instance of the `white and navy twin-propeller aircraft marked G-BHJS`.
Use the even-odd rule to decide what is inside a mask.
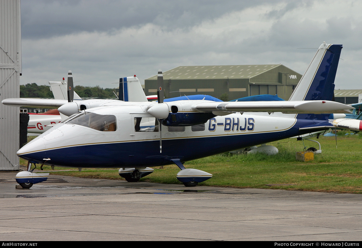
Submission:
[[[177,179],[195,186],[212,175],[186,169],[186,161],[333,128],[329,114],[350,113],[350,106],[330,101],[341,49],[325,43],[319,47],[290,101],[164,102],[159,71],[158,103],[62,104],[59,112],[71,116],[18,150],[29,162],[28,171],[19,172],[16,180],[24,188],[46,180],[46,174],[32,172],[32,163],[118,167],[119,175],[133,182],[153,172],[149,167],[174,163],[181,169]],[[20,102],[3,101],[15,106]]]

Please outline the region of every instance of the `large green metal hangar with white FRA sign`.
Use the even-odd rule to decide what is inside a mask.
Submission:
[[[166,98],[203,94],[223,101],[260,94],[288,100],[301,77],[282,64],[179,66],[163,72]],[[157,75],[144,80],[144,89],[146,95],[157,94]]]

